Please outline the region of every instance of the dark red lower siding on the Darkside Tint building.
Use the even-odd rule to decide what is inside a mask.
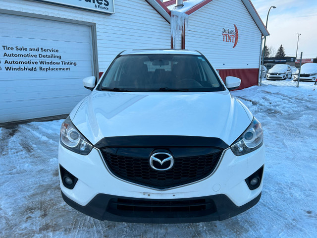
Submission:
[[[258,85],[258,68],[218,69],[218,72],[223,82],[225,82],[227,76],[240,78],[241,84],[237,90]]]

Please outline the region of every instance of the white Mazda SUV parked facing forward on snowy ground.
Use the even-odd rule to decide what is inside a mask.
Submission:
[[[120,53],[62,123],[64,201],[99,220],[224,220],[261,197],[261,123],[199,52]]]

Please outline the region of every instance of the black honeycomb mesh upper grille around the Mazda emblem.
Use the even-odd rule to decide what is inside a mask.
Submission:
[[[135,154],[129,156],[135,153],[137,148],[124,148],[124,155],[109,153],[109,151],[118,152],[116,148],[101,151],[108,169],[116,177],[159,189],[175,187],[208,177],[216,168],[222,153],[221,149],[212,148],[210,149],[212,153],[207,155],[184,157],[184,154],[192,155],[193,151],[190,150],[196,149],[197,151],[197,148],[173,148],[168,150],[174,156],[173,167],[167,171],[157,171],[152,169],[149,163],[151,151],[154,149],[143,148],[143,150],[147,149],[150,153],[142,157],[135,156]],[[188,153],[184,153],[184,151],[188,151]],[[182,156],[175,156],[176,152]]]

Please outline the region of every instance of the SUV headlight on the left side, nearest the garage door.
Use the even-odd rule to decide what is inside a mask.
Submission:
[[[67,149],[81,155],[88,155],[93,149],[93,145],[79,132],[69,117],[61,124],[60,143]]]

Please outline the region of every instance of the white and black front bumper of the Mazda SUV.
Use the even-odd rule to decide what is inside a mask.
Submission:
[[[186,216],[183,219],[170,218],[168,223],[223,220],[247,210],[260,199],[262,181],[258,188],[250,190],[245,179],[264,165],[264,153],[264,145],[243,156],[235,156],[228,148],[223,151],[219,166],[211,176],[190,184],[159,190],[116,178],[106,168],[101,153],[96,148],[89,155],[83,156],[59,145],[59,164],[78,178],[73,189],[66,188],[61,179],[60,187],[64,200],[69,205],[97,219],[145,222],[141,218],[127,218],[124,214],[120,216],[108,212],[108,200],[112,198],[121,197],[138,201],[144,199],[181,201],[182,199],[199,200],[202,197],[207,197],[215,201],[217,211],[215,214],[207,214],[197,219],[187,217],[187,220]],[[105,202],[98,202],[100,197],[103,197]],[[228,209],[220,208],[221,203],[218,201],[221,199],[218,199],[219,197],[226,201],[223,206],[228,206]],[[99,213],[94,212],[97,209],[96,206],[100,206]],[[93,207],[95,208],[93,209]],[[103,216],[101,216],[101,212],[104,214]],[[168,214],[166,216],[168,217]],[[152,219],[153,222],[163,222],[163,220]]]

